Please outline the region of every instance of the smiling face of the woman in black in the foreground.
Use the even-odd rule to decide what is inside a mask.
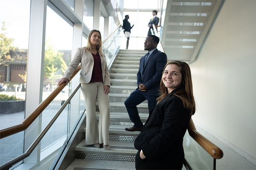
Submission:
[[[170,94],[182,82],[181,67],[175,64],[167,65],[163,72],[162,81],[168,89],[168,94]]]

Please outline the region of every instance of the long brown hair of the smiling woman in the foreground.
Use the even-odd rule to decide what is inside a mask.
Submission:
[[[195,99],[193,95],[193,86],[192,86],[192,78],[191,78],[191,71],[189,68],[189,65],[186,62],[182,61],[170,61],[166,64],[175,64],[179,66],[181,69],[182,74],[182,84],[180,85],[181,88],[179,91],[177,91],[174,95],[178,96],[183,101],[184,108],[190,109],[192,111],[192,115],[195,113]],[[163,69],[163,73],[165,71],[165,68]],[[163,74],[162,74],[163,75]],[[168,95],[168,90],[166,86],[163,83],[163,79],[161,78],[160,82],[160,96],[157,98],[157,102],[160,102]]]

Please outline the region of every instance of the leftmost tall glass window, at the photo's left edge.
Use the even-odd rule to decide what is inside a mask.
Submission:
[[[29,15],[30,0],[0,0],[0,129],[25,117]],[[23,145],[24,132],[0,139],[0,165],[20,156]]]

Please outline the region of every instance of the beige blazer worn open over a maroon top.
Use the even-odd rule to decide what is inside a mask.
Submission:
[[[102,78],[104,85],[110,86],[110,77],[108,71],[108,65],[106,62],[105,54],[100,55],[101,66],[102,66]],[[84,47],[77,48],[76,54],[74,55],[70,65],[68,65],[67,70],[65,71],[62,78],[67,78],[70,80],[70,77],[81,63],[81,72],[80,72],[80,83],[89,83],[93,73],[94,59],[93,54],[87,52]]]

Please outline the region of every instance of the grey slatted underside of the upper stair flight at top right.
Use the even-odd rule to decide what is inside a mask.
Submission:
[[[195,60],[221,3],[223,0],[167,1],[160,37],[169,60]]]

